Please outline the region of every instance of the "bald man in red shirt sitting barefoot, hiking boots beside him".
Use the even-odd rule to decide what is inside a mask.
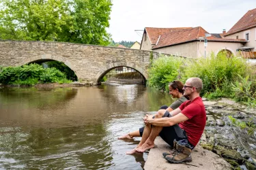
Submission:
[[[165,114],[165,109],[160,109],[155,118],[145,116],[145,129],[143,136],[137,148],[126,152],[126,154],[134,154],[135,152],[145,152],[150,148],[154,148],[154,139],[159,135],[170,146],[175,142],[177,152],[163,154],[170,163],[183,163],[192,160],[190,153],[197,145],[206,123],[206,113],[203,101],[199,96],[203,88],[203,82],[199,78],[189,78],[184,85],[184,96],[189,97],[177,109]],[[162,115],[169,115],[162,118]],[[179,126],[173,126],[179,124]]]

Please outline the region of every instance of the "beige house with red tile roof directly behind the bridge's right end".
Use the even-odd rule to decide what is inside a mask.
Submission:
[[[222,34],[210,34],[202,27],[146,27],[141,40],[141,50],[197,58],[208,56],[211,52],[218,54],[223,50],[229,54],[238,54],[237,49],[242,48],[244,44],[245,39],[223,38]]]

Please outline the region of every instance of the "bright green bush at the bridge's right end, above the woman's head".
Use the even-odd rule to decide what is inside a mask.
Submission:
[[[184,58],[177,56],[160,56],[156,61],[153,61],[149,71],[149,86],[158,90],[169,90],[168,84],[173,80],[177,80],[180,68],[184,63]]]

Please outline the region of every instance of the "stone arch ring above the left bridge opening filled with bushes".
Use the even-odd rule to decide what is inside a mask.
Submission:
[[[70,69],[72,69],[72,71],[74,71],[74,73],[76,74],[78,79],[81,78],[79,73],[77,73],[76,68],[74,67],[74,65],[72,63],[70,63],[70,61],[68,61],[68,60],[66,60],[66,58],[63,58],[60,56],[53,56],[52,54],[42,54],[39,56],[32,56],[32,57],[25,59],[23,62],[17,63],[15,66],[26,65],[28,63],[32,63],[35,61],[59,61],[59,62],[62,62],[66,66],[68,66]]]

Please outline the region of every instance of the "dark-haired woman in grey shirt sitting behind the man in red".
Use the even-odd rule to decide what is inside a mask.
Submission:
[[[188,99],[183,96],[183,90],[184,84],[180,82],[179,80],[175,80],[169,84],[169,94],[173,98],[177,98],[176,101],[174,101],[169,107],[167,105],[163,105],[160,107],[160,109],[166,109],[168,112],[173,111],[177,107],[179,107],[184,101],[187,101]],[[167,117],[169,114],[163,114],[162,117]],[[154,116],[153,116],[154,118]],[[118,139],[132,139],[133,137],[142,137],[144,131],[144,127],[141,127],[138,131],[133,131],[130,133],[127,133],[126,135],[122,135],[121,137],[118,137]]]

